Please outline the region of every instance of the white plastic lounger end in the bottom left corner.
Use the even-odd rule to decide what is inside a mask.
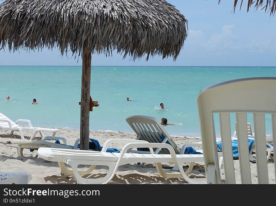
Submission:
[[[0,184],[28,184],[31,179],[27,172],[0,172]]]

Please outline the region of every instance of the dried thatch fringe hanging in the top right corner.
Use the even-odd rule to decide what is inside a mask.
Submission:
[[[241,5],[242,5],[243,0],[241,0]],[[220,4],[220,0],[219,0],[219,4]],[[236,6],[238,4],[238,0],[234,0],[234,13],[235,13],[235,9]],[[251,7],[252,4],[255,4],[254,8],[256,8],[256,10],[258,8],[261,8],[261,10],[265,9],[265,12],[269,12],[270,11],[270,16],[275,14],[276,12],[276,0],[248,0],[247,3],[247,12],[249,11],[249,8]],[[240,6],[240,10],[241,10],[241,6]]]

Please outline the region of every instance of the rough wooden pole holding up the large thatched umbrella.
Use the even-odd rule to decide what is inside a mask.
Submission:
[[[91,50],[85,40],[82,49],[82,93],[81,93],[81,126],[80,149],[88,150],[89,144],[89,113],[90,113],[90,78]]]

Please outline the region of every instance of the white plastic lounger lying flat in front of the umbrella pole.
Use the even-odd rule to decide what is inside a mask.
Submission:
[[[111,143],[125,143],[121,153],[109,153],[106,151]],[[127,153],[130,148],[149,148],[151,154],[133,154]],[[167,148],[170,154],[154,154],[153,148]],[[109,139],[105,142],[101,152],[72,149],[39,148],[38,156],[48,161],[58,162],[61,173],[74,175],[79,184],[105,184],[115,175],[120,165],[136,162],[155,163],[157,171],[164,178],[183,177],[188,183],[206,183],[205,178],[189,178],[183,170],[184,162],[202,162],[202,154],[175,154],[174,148],[167,143],[148,143],[143,140],[133,139]],[[64,163],[70,165],[71,169],[64,166]],[[161,163],[175,163],[179,167],[180,174],[166,173]],[[92,165],[87,171],[78,171],[78,165]],[[103,178],[83,178],[81,175],[88,174],[96,165],[107,165],[109,171]]]

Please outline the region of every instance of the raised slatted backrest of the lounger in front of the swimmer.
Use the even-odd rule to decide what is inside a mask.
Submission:
[[[126,118],[127,123],[138,135],[138,139],[145,140],[150,143],[162,143],[164,138],[167,138],[173,146],[176,153],[180,152],[180,148],[173,142],[169,133],[164,129],[157,118],[149,116],[135,115]],[[162,139],[163,134],[163,139]],[[166,141],[165,141],[166,143]]]

